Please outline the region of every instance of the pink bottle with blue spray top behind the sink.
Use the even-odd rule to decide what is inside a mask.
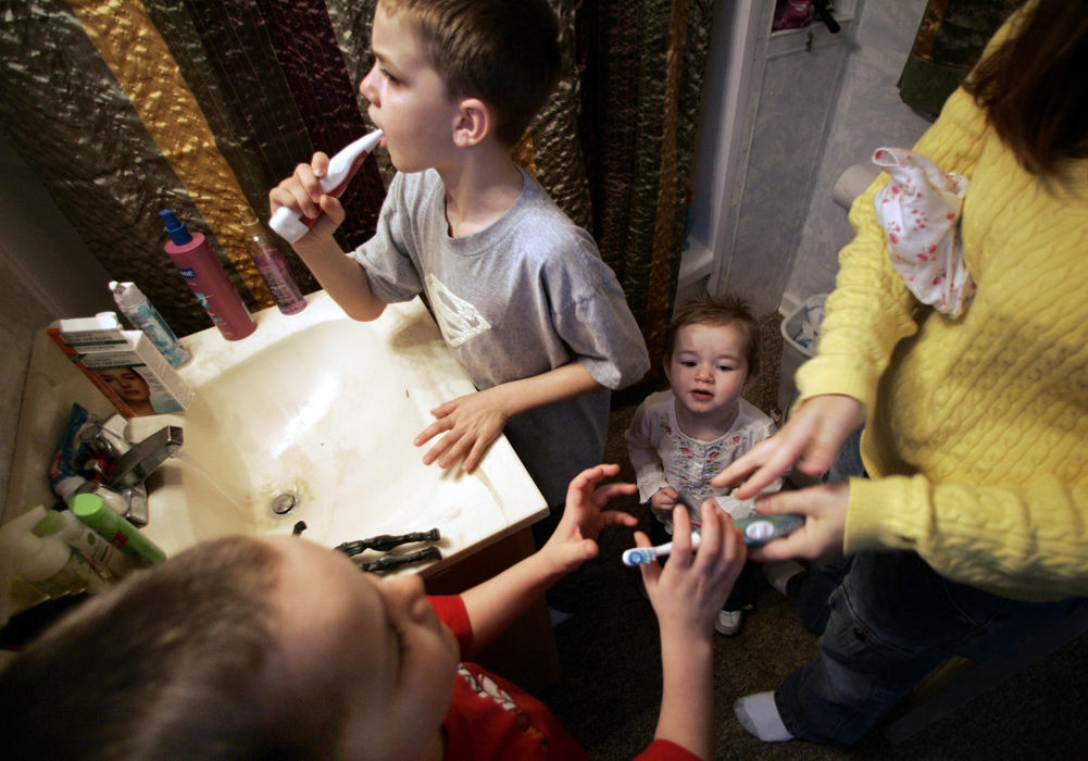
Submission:
[[[169,209],[163,209],[159,216],[170,235],[170,241],[163,246],[166,255],[193,289],[200,306],[207,310],[223,337],[237,341],[257,330],[257,323],[223,271],[215,253],[205,241],[203,234],[190,233]]]

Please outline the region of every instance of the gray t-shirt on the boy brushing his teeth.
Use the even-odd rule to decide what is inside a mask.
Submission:
[[[601,462],[608,389],[650,368],[639,326],[593,238],[522,172],[521,195],[494,224],[452,238],[437,172],[398,173],[374,236],[349,256],[386,304],[422,293],[457,361],[480,390],[578,359],[605,390],[512,417],[505,433],[548,504]]]

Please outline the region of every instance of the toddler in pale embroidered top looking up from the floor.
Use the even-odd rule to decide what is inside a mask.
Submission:
[[[759,324],[744,302],[696,298],[672,318],[663,358],[669,390],[647,396],[626,432],[639,495],[651,506],[651,538],[668,541],[671,512],[681,494],[696,523],[706,500],[733,518],[755,514],[754,500],[737,500],[709,480],[724,467],[775,432],[775,424],[741,393],[758,372]],[[770,490],[781,487],[781,479]],[[750,573],[746,576],[751,576]],[[744,579],[718,614],[715,629],[740,631],[750,604]]]

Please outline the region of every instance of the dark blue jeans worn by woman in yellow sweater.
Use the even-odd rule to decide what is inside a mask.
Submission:
[[[1000,598],[890,552],[855,555],[829,604],[819,653],[786,677],[775,703],[794,737],[850,745],[945,659],[1014,652],[1083,601]]]

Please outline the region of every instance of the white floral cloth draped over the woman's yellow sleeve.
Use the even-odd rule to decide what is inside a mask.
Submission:
[[[905,148],[877,148],[873,163],[891,177],[874,206],[892,267],[919,302],[960,317],[975,295],[960,238],[969,181]]]

